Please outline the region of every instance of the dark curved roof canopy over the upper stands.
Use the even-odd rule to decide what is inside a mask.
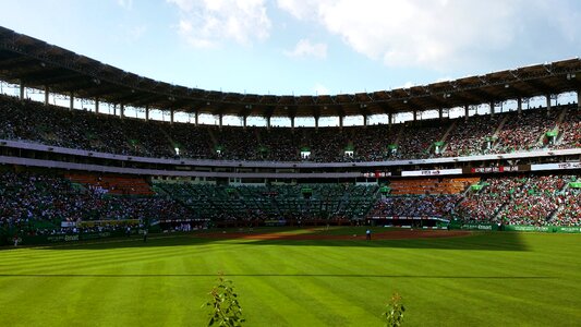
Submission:
[[[140,76],[0,26],[0,80],[109,104],[240,117],[371,116],[578,92],[581,60],[373,93],[275,96],[223,93]]]

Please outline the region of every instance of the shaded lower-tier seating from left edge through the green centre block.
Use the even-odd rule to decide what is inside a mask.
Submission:
[[[63,221],[99,220],[99,230],[102,221],[122,220],[346,221],[364,219],[378,197],[376,185],[150,185],[140,177],[11,170],[0,171],[0,231],[32,234],[66,231]]]

